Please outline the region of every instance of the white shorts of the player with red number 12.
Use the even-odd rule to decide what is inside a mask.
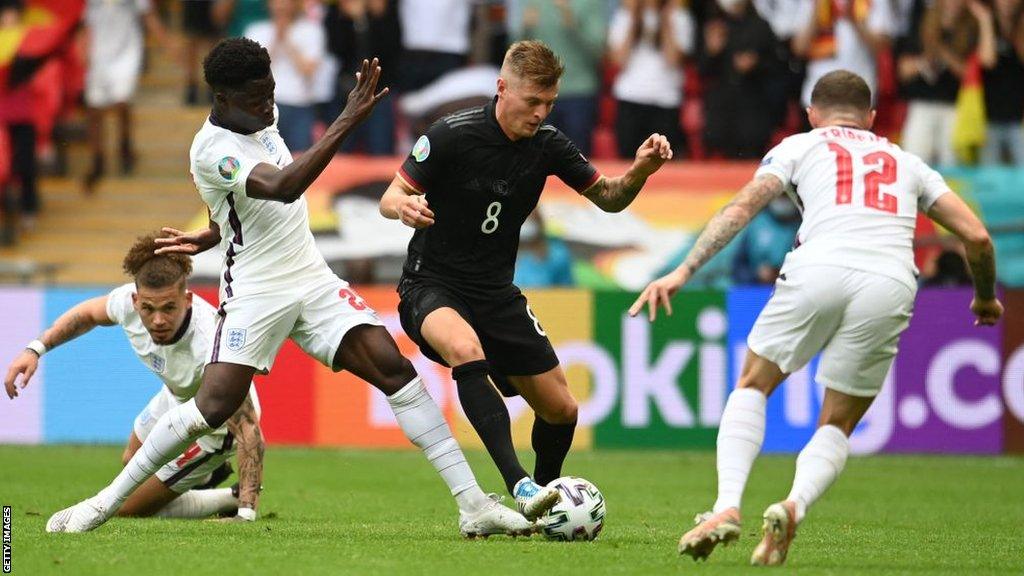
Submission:
[[[874,397],[896,356],[915,291],[887,276],[840,266],[801,266],[775,282],[746,343],[790,374],[821,352],[817,381]]]

